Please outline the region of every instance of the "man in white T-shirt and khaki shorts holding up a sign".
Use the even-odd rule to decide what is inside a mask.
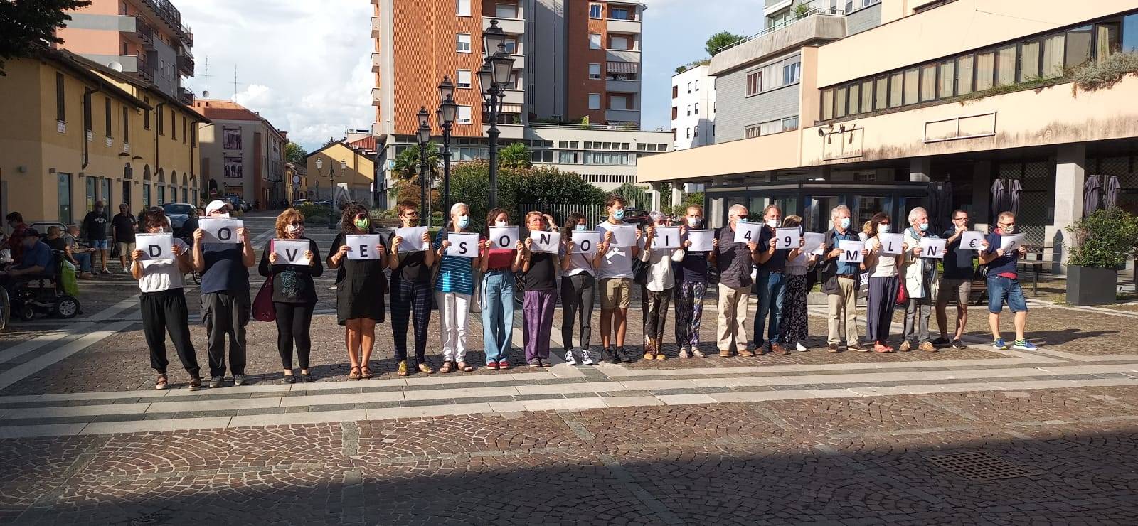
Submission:
[[[609,216],[596,231],[601,232],[601,246],[597,249],[604,254],[601,268],[597,270],[597,285],[601,289],[601,357],[609,363],[633,361],[625,352],[625,332],[628,330],[628,305],[633,301],[633,257],[640,255],[637,244],[617,246],[613,238],[613,227],[624,225],[625,208],[628,203],[617,195],[610,195],[604,202]],[[636,230],[640,240],[641,231]],[[610,347],[616,344],[616,350]]]

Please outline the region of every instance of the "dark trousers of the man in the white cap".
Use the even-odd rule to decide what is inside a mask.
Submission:
[[[201,321],[206,324],[209,376],[225,376],[225,336],[229,335],[229,370],[245,375],[245,326],[249,323],[249,291],[226,290],[201,295]]]

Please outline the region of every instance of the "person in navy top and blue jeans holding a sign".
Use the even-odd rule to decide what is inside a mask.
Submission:
[[[777,241],[775,229],[782,223],[782,211],[775,205],[767,205],[762,211],[762,232],[759,235],[759,252],[754,261],[759,264],[759,279],[754,281],[759,289],[759,311],[754,315],[754,352],[762,354],[774,352],[790,354],[782,342],[778,342],[778,322],[782,320],[783,295],[786,279],[783,269],[786,266],[789,248],[775,249]],[[767,317],[769,314],[769,323]],[[767,339],[762,339],[762,330],[767,330]]]

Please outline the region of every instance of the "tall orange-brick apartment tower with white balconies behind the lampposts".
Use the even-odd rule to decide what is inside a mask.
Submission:
[[[439,133],[434,112],[440,102],[437,85],[444,75],[455,83],[459,104],[452,161],[489,157],[489,126],[477,75],[485,57],[481,33],[492,20],[506,33],[506,51],[514,59],[498,121],[501,145],[525,142],[535,163],[578,172],[602,188],[635,182],[636,158],[649,155],[650,146],[652,153],[671,148],[667,132],[638,130],[645,9],[638,2],[372,3],[377,192],[391,187],[396,156],[417,147],[415,113],[420,107],[431,113],[435,133]],[[570,122],[574,124],[566,124]],[[621,149],[626,145],[628,148]],[[386,199],[378,197],[377,203]]]

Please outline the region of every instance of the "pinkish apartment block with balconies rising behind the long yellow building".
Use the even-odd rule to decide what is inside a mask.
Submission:
[[[185,77],[193,76],[193,33],[170,0],[92,0],[68,15],[57,31],[60,48],[193,104],[185,89]]]

